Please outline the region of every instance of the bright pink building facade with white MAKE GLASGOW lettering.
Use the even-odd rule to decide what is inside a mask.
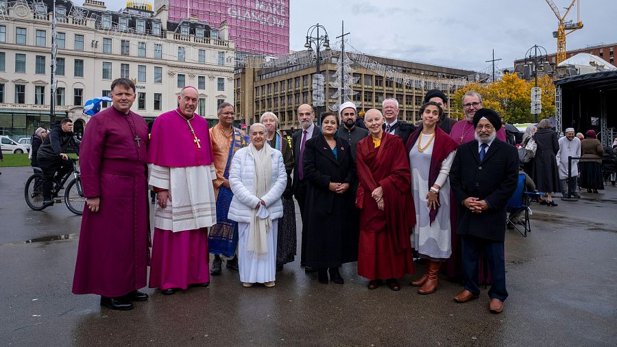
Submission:
[[[289,53],[289,0],[169,0],[170,21],[189,11],[213,29],[227,21],[239,53]]]

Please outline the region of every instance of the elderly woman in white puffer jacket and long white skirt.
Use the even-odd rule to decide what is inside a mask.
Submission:
[[[238,267],[245,287],[274,287],[280,196],[287,185],[282,154],[265,144],[265,126],[251,125],[251,144],[234,154],[229,184],[234,198],[228,218],[238,222]]]

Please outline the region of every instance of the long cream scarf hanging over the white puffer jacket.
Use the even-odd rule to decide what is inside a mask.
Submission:
[[[249,144],[249,148],[255,161],[254,194],[261,199],[270,190],[272,181],[272,149],[269,144],[264,144],[261,150],[257,150],[253,144]],[[265,206],[253,207],[251,212],[252,218],[249,224],[247,252],[257,257],[264,257],[268,252],[266,233],[271,227],[271,220],[269,214],[265,218],[260,218],[258,216],[259,209],[262,210],[262,217],[264,212],[267,214]]]

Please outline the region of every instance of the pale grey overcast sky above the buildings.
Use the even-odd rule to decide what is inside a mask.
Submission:
[[[553,1],[562,15],[571,2]],[[566,47],[616,43],[617,1],[580,2],[584,27],[567,36]],[[118,10],[125,0],[106,0],[106,5]],[[503,59],[496,63],[502,68],[534,44],[548,53],[557,50],[557,18],[545,0],[290,0],[289,16],[289,48],[296,51],[304,49],[311,25],[324,25],[334,40],[341,21],[350,33],[348,43],[363,53],[455,68],[483,70],[492,49]],[[576,21],[576,12],[567,18]]]

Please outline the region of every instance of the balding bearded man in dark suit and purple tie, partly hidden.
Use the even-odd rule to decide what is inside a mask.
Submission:
[[[304,201],[306,200],[306,180],[304,179],[304,168],[302,167],[302,157],[304,155],[304,146],[306,141],[319,134],[319,128],[315,127],[313,119],[315,112],[313,107],[306,103],[298,107],[298,122],[301,129],[295,131],[291,136],[291,148],[293,149],[293,181],[292,190],[295,200],[298,201],[300,207],[300,216],[302,217],[302,246],[300,252],[300,266],[306,265],[306,233],[304,232]],[[313,271],[312,268],[306,268],[307,272]]]

